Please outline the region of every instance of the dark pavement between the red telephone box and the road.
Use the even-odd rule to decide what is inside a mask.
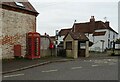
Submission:
[[[52,62],[72,61],[73,59],[63,57],[48,57],[40,59],[9,59],[2,61],[2,74],[25,70],[36,66],[49,64]]]

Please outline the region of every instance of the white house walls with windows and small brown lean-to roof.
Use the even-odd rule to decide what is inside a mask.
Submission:
[[[113,48],[113,41],[116,41],[117,37],[118,34],[110,29],[95,30],[89,37],[94,43],[90,50],[103,52],[105,49]]]

